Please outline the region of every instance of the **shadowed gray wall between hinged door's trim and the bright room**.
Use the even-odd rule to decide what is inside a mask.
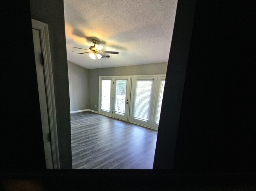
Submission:
[[[60,166],[62,169],[71,169],[69,78],[63,0],[30,0],[30,7],[31,17],[49,27]]]

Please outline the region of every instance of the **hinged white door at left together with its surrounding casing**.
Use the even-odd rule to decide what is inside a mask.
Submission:
[[[39,102],[47,169],[60,169],[48,25],[32,19]],[[41,54],[43,53],[43,54]],[[43,65],[42,65],[43,64]]]

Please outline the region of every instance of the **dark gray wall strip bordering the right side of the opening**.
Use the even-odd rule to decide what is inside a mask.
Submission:
[[[153,169],[173,167],[195,2],[180,0],[177,4]]]

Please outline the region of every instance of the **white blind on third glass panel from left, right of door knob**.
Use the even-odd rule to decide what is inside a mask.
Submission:
[[[153,79],[136,82],[133,117],[137,120],[147,122],[149,119],[152,85]]]

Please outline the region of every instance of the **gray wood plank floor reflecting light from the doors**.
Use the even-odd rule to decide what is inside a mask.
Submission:
[[[73,169],[152,169],[157,131],[90,111],[70,116]]]

